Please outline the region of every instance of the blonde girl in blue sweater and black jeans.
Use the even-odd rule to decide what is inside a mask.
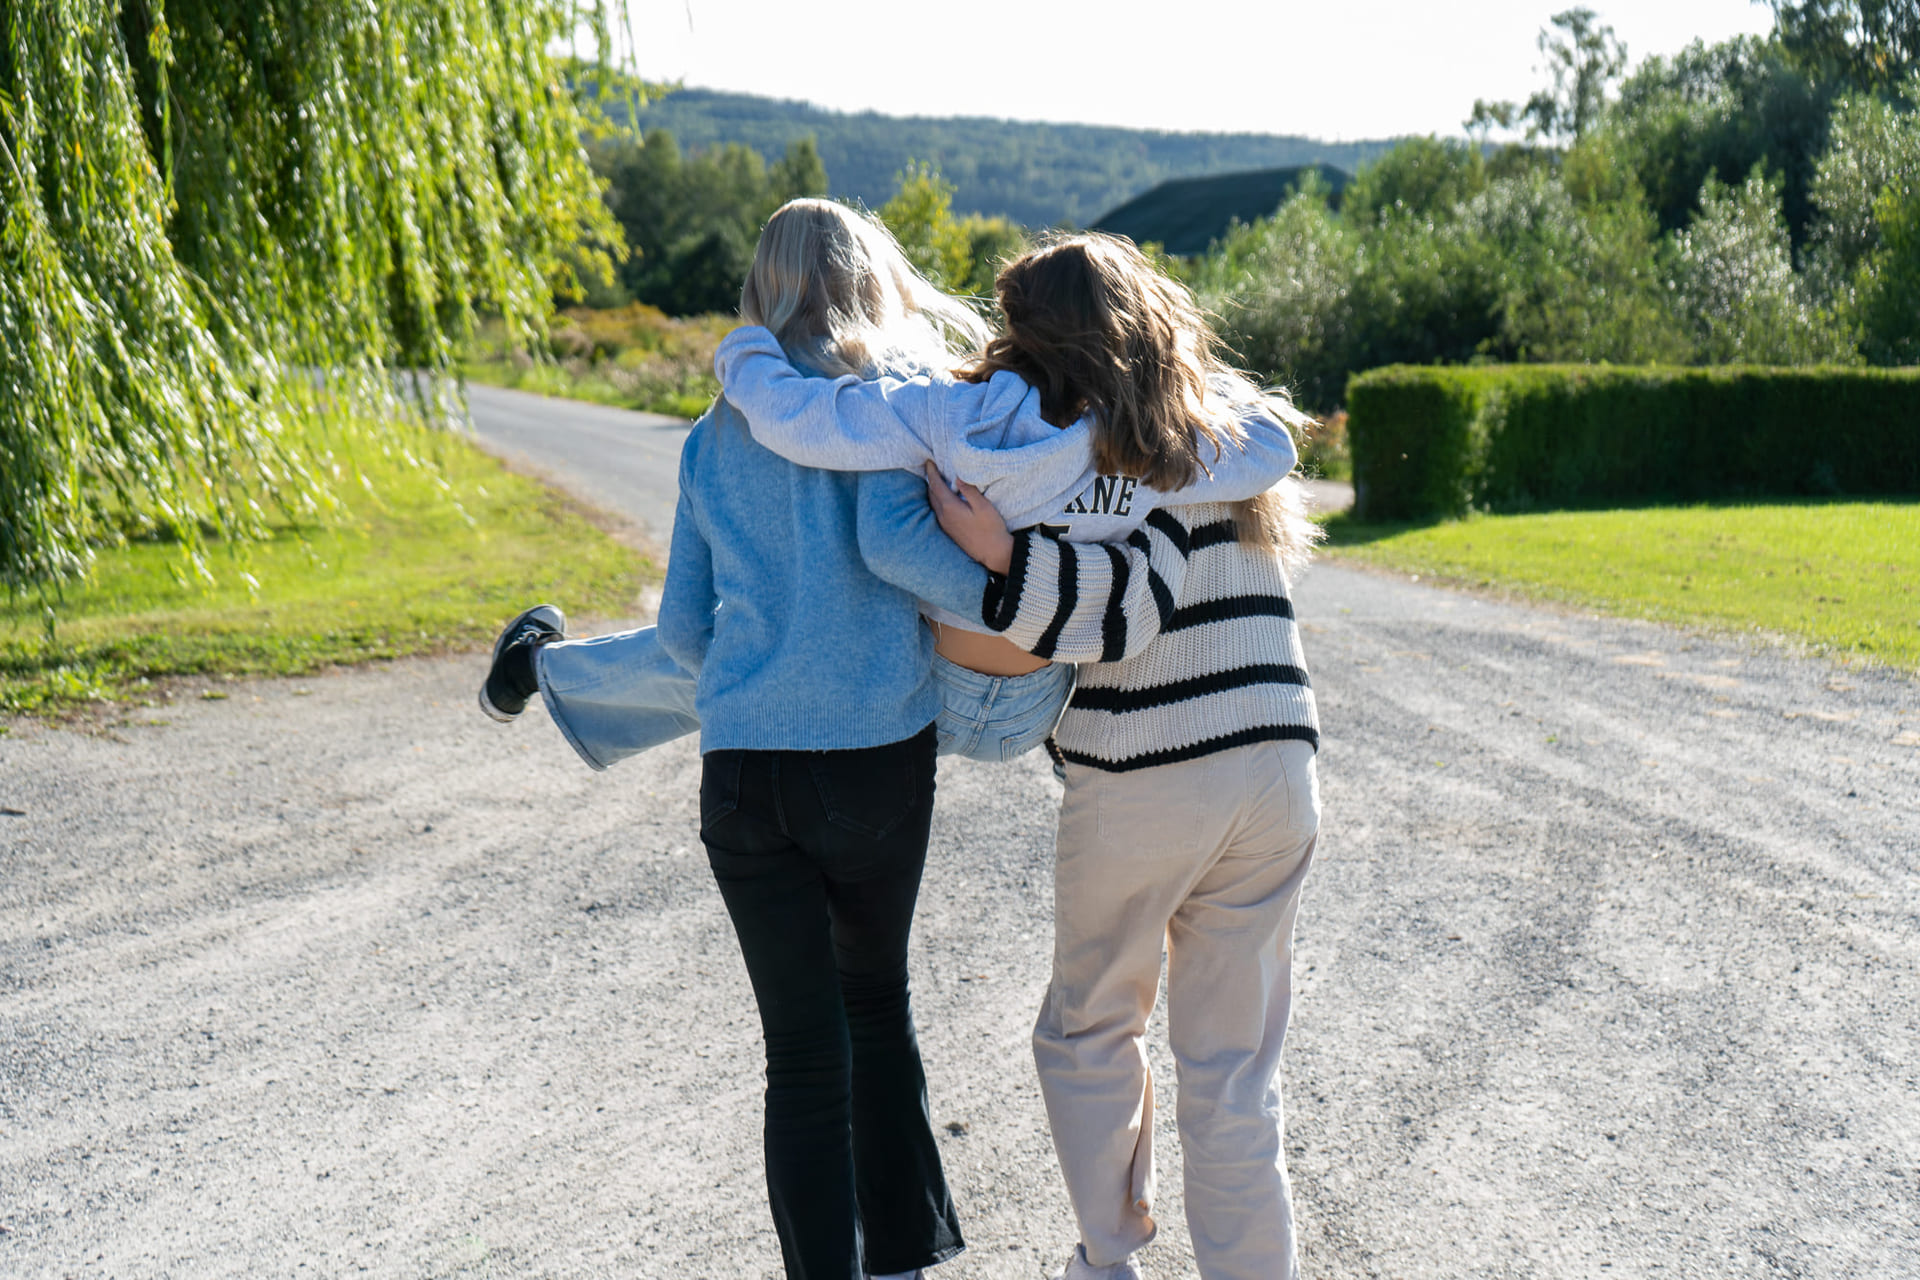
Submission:
[[[822,372],[925,368],[979,334],[826,201],[774,215],[741,309]],[[1025,466],[1077,472],[1071,447]],[[726,401],[680,462],[659,643],[697,677],[701,841],[760,1009],[768,1199],[795,1280],[918,1276],[964,1247],[906,973],[941,702],[914,593],[973,599],[979,570],[914,486],[795,466]]]

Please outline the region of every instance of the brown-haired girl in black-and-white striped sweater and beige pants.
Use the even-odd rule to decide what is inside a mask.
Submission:
[[[1131,244],[1056,240],[1014,261],[996,294],[1006,334],[962,378],[1020,378],[1050,422],[1091,422],[1100,472],[1173,497],[1092,551],[1060,530],[1010,533],[979,491],[931,484],[943,528],[993,574],[977,622],[1083,664],[1056,729],[1054,965],[1033,1034],[1079,1219],[1066,1276],[1131,1280],[1156,1232],[1144,1031],[1162,948],[1200,1274],[1292,1276],[1279,1057],[1319,831],[1319,729],[1286,566],[1315,530],[1294,487],[1179,503],[1219,457],[1219,407],[1260,397],[1219,359],[1190,296]],[[764,370],[728,376],[724,357],[728,395],[751,403]],[[958,391],[851,378],[812,390],[866,447],[893,430],[950,430],[929,407],[966,405]]]

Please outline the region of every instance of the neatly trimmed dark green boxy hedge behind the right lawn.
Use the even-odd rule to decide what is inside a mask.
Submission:
[[[1394,365],[1346,401],[1363,520],[1920,493],[1920,368]]]

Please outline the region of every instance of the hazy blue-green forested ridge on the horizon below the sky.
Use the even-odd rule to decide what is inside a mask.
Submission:
[[[1083,226],[1165,178],[1313,161],[1352,173],[1390,146],[985,117],[847,115],[707,88],[684,88],[649,104],[639,123],[670,130],[684,148],[745,142],[768,159],[812,136],[833,194],[876,209],[893,194],[906,161],[931,161],[958,188],[954,213],[1006,215],[1025,226]]]

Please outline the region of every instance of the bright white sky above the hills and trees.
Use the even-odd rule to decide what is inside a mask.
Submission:
[[[1586,0],[1634,63],[1772,29],[1753,0]],[[843,111],[1290,132],[1459,134],[1524,100],[1574,0],[628,0],[647,79]]]

